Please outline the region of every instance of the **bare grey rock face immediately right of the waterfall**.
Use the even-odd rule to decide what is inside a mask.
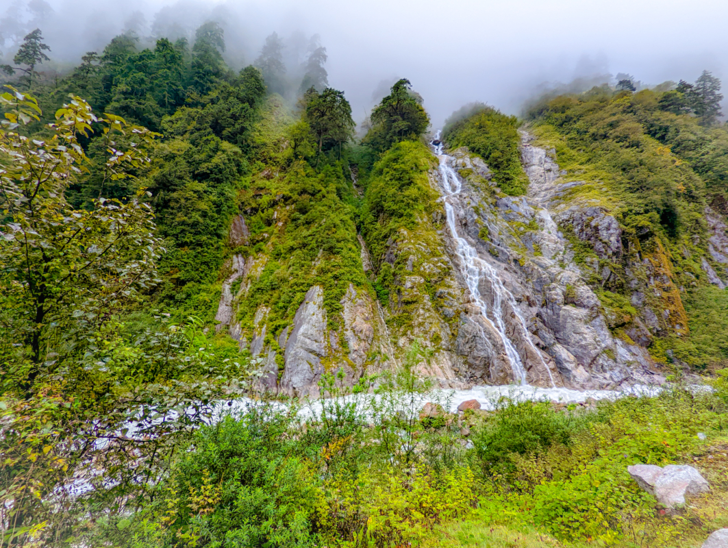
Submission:
[[[505,321],[529,384],[587,389],[660,381],[649,354],[609,329],[606,311],[588,283],[592,272],[575,261],[574,246],[564,235],[569,229],[597,256],[613,260],[622,255],[619,224],[599,207],[563,199],[573,183],[563,188],[558,164],[547,151],[531,146],[528,136],[521,156],[530,184],[529,193],[517,197],[500,194],[496,181],[466,150],[454,151],[449,161],[464,175],[457,212],[462,234],[497,272],[519,309],[520,314],[506,311]],[[483,279],[480,288],[491,305],[493,285]],[[486,361],[496,362],[492,356]],[[496,371],[500,376],[491,373],[489,381],[511,380],[506,368]]]

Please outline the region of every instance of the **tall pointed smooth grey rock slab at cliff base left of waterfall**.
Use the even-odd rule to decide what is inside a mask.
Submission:
[[[293,328],[285,343],[285,370],[279,392],[298,397],[317,394],[317,384],[324,372],[321,358],[326,354],[323,289],[314,285],[293,317]]]

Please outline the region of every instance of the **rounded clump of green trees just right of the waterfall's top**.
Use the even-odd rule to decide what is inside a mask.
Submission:
[[[443,139],[451,148],[467,146],[493,170],[498,186],[511,196],[526,194],[529,180],[521,167],[518,119],[482,106],[464,119],[446,123]]]

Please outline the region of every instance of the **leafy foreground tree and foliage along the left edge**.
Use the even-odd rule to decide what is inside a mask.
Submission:
[[[94,509],[143,498],[210,400],[248,377],[198,319],[129,313],[162,252],[143,194],[66,201],[89,164],[81,138],[98,128],[104,180],[122,180],[157,135],[71,96],[44,140],[27,138],[16,131],[41,116],[35,98],[10,88],[0,103],[0,526],[8,546],[58,546]]]

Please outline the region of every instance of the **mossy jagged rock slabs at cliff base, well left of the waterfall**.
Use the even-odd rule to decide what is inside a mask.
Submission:
[[[395,352],[381,311],[367,290],[353,285],[341,299],[338,329],[329,326],[323,290],[317,285],[309,289],[293,322],[280,333],[269,332],[266,306],[258,308],[253,325],[240,326],[237,303],[245,298],[251,279],[260,276],[264,261],[262,255],[247,261],[234,255],[215,316],[220,322],[217,330],[226,328],[239,341],[240,349],[257,360],[258,389],[293,397],[316,396],[327,371],[343,373],[338,383],[352,386],[365,371],[375,373],[389,367]],[[231,288],[237,281],[240,289],[233,295]]]

